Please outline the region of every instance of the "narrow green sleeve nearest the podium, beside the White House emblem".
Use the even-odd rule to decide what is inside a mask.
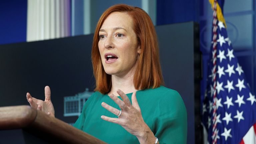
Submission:
[[[85,102],[84,106],[83,106],[83,110],[81,112],[81,115],[78,117],[78,119],[76,120],[76,122],[74,123],[74,127],[75,128],[78,128],[80,130],[83,130],[83,127],[84,127],[84,121],[85,121],[85,116],[86,116],[86,113],[89,109],[89,106],[90,106],[90,103],[91,101],[93,100],[93,96],[95,95],[95,93],[93,93],[89,98],[88,100]]]

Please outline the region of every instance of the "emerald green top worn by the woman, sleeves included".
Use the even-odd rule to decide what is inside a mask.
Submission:
[[[132,93],[126,95],[131,101]],[[145,123],[159,139],[160,144],[186,143],[187,111],[177,91],[160,86],[139,90],[136,97]],[[102,115],[117,117],[103,108],[102,102],[120,109],[107,94],[96,91],[86,101],[74,127],[109,144],[139,144],[137,137],[120,125],[101,119]]]

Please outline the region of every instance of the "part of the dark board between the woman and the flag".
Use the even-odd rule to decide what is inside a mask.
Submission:
[[[160,61],[162,66],[165,85],[168,88],[177,90],[184,100],[188,113],[188,143],[195,142],[195,89],[197,93],[197,110],[200,110],[200,82],[194,80],[196,75],[200,76],[200,55],[194,55],[194,51],[199,53],[199,34],[194,39],[194,23],[179,23],[156,27],[159,47]],[[198,27],[197,27],[198,31]],[[194,41],[196,42],[196,45]],[[194,49],[196,47],[197,49]],[[194,59],[197,59],[196,63]],[[197,71],[194,67],[197,67]],[[198,71],[199,70],[199,71]],[[200,112],[200,111],[199,111]],[[200,125],[200,114],[198,121]]]

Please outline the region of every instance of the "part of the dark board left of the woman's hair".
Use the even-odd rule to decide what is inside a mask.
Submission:
[[[63,117],[63,97],[93,91],[91,65],[93,35],[0,46],[0,106],[28,104],[26,92],[44,99],[51,88],[55,116]]]

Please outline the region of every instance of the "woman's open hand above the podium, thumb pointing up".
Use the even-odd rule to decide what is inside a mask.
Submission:
[[[44,88],[45,100],[33,98],[30,93],[27,93],[27,100],[32,108],[43,111],[46,114],[55,117],[54,107],[51,101],[51,90],[49,86]]]

